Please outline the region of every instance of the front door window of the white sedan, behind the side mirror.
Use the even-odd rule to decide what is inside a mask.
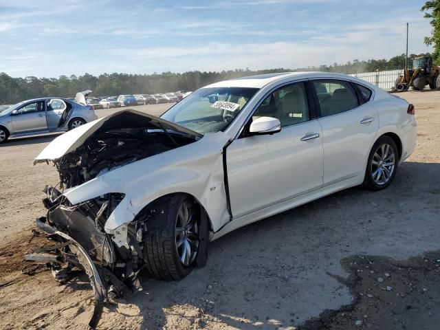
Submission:
[[[304,83],[294,83],[273,91],[256,109],[252,120],[263,116],[278,118],[282,127],[310,120]]]

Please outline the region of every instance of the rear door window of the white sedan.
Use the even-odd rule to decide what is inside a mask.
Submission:
[[[355,90],[348,81],[314,80],[322,117],[336,115],[359,106]]]

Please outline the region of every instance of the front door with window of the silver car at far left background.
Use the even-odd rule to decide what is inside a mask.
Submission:
[[[30,131],[47,131],[44,101],[36,101],[23,105],[11,114],[14,133]]]

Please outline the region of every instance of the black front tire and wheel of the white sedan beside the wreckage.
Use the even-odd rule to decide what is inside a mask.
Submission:
[[[147,220],[147,226],[152,230],[148,230],[144,237],[144,261],[148,273],[164,281],[184,278],[197,263],[201,241],[199,205],[188,195],[176,194],[162,197],[146,214],[153,214]],[[190,225],[184,225],[186,215]],[[185,247],[190,248],[189,253],[185,253],[188,252]]]

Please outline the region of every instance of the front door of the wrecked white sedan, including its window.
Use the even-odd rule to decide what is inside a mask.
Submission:
[[[250,120],[260,116],[278,118],[281,131],[272,135],[244,131],[227,148],[234,218],[322,187],[322,132],[318,120],[311,118],[305,84],[276,89]]]

